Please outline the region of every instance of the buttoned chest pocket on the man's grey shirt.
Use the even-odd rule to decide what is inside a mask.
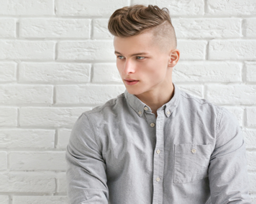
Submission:
[[[207,177],[210,155],[210,144],[175,144],[174,183],[188,183]]]

